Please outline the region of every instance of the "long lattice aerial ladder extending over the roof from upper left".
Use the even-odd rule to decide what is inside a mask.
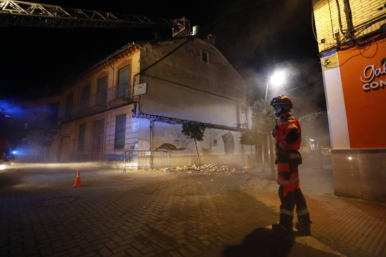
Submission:
[[[171,28],[173,37],[190,35],[190,20],[115,14],[58,5],[0,0],[0,28]]]

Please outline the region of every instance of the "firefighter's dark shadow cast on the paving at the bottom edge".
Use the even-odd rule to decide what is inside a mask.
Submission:
[[[229,245],[223,251],[225,257],[235,256],[287,256],[295,239],[273,233],[268,228],[257,228],[239,245]]]

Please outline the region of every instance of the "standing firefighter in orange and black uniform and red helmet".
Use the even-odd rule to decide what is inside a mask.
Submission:
[[[296,228],[311,235],[310,213],[306,200],[301,193],[299,184],[298,165],[301,155],[298,152],[301,143],[301,128],[298,119],[290,114],[293,104],[287,96],[272,99],[271,106],[275,108],[275,116],[280,118],[280,126],[273,129],[272,135],[276,139],[276,161],[278,165],[278,184],[280,198],[280,222],[272,224],[272,230],[293,236],[292,220],[296,204],[298,222]]]

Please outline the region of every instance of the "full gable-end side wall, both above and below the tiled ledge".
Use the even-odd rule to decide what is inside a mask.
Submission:
[[[187,39],[141,44],[141,70],[164,57]],[[208,53],[209,62],[201,60]],[[149,75],[149,76],[147,76]],[[239,74],[211,44],[194,39],[141,75],[147,93],[141,96],[141,113],[235,127],[244,123],[246,86]],[[139,119],[138,149],[169,150],[171,165],[197,164],[195,142],[182,134],[181,124],[154,122],[151,146],[149,119]],[[197,142],[202,163],[240,163],[244,146],[240,132],[205,130]]]

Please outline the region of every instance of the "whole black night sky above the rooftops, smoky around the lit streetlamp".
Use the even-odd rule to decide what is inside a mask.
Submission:
[[[269,87],[268,98],[285,94],[301,114],[325,109],[318,45],[312,31],[312,4],[305,0],[195,1],[41,1],[81,8],[161,18],[186,17],[244,78],[249,102],[265,96],[267,75],[285,69],[286,83]],[[60,93],[60,86],[129,42],[154,39],[152,30],[171,29],[0,29],[1,99],[30,99]]]

